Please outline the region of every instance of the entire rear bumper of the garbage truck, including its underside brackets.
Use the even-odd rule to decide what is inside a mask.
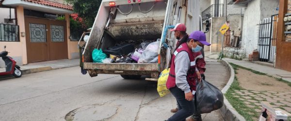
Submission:
[[[143,75],[152,78],[159,77],[158,64],[134,64],[134,63],[91,63],[84,62],[84,69],[87,69],[90,76],[97,74],[116,75]]]

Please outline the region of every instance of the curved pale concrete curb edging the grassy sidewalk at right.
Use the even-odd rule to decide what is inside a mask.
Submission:
[[[227,67],[227,70],[230,72],[229,80],[226,84],[226,86],[222,89],[222,93],[225,94],[226,91],[230,88],[230,85],[232,84],[234,80],[234,69],[232,66],[224,59],[221,60],[221,63]],[[224,106],[220,108],[220,111],[222,113],[223,118],[225,121],[246,121],[228,102],[226,97],[224,96]]]

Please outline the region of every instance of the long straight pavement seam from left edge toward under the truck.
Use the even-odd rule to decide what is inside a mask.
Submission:
[[[94,81],[94,82],[90,82],[90,83],[86,83],[86,84],[78,85],[78,86],[71,87],[71,88],[67,88],[67,89],[60,90],[60,91],[52,91],[52,92],[49,92],[49,93],[46,93],[46,94],[42,94],[42,95],[38,95],[38,96],[34,96],[34,97],[30,97],[30,98],[26,98],[26,99],[22,99],[22,100],[18,100],[18,101],[13,101],[13,102],[9,102],[9,103],[5,103],[5,104],[1,104],[0,106],[4,106],[4,105],[7,105],[7,104],[12,104],[12,103],[16,103],[16,102],[20,102],[20,101],[24,101],[24,100],[33,99],[33,98],[36,98],[36,97],[41,97],[41,96],[49,95],[49,94],[56,93],[56,92],[61,92],[61,91],[65,91],[65,90],[69,90],[69,89],[73,89],[73,88],[81,87],[81,86],[84,86],[84,85],[88,85],[88,84],[92,84],[92,83],[96,83],[96,82],[104,81],[104,80],[111,79],[111,78],[115,78],[115,77],[118,77],[118,76],[113,76],[113,77],[110,77],[110,78],[101,79],[101,80],[98,80],[98,81]]]

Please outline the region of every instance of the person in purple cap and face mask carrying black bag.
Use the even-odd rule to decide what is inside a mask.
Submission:
[[[195,112],[192,102],[196,92],[196,81],[201,82],[201,75],[197,69],[194,53],[200,52],[206,42],[206,35],[202,31],[194,31],[187,40],[181,40],[175,50],[168,80],[167,89],[178,102],[178,112],[168,121],[186,121]]]

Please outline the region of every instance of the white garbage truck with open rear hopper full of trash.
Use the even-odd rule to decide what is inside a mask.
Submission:
[[[82,69],[91,77],[157,81],[177,43],[169,29],[184,23],[188,33],[201,30],[198,7],[198,0],[102,0],[81,53]],[[94,60],[103,57],[94,55],[97,50],[106,55],[103,62]]]

